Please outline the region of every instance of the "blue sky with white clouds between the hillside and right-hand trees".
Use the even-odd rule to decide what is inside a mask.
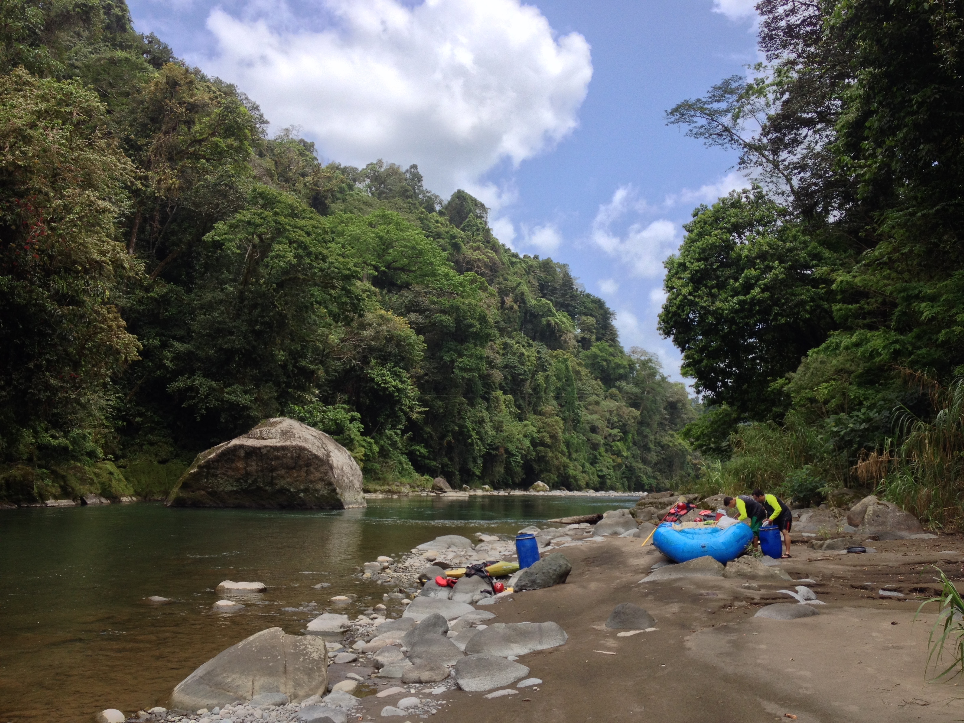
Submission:
[[[135,28],[236,84],[322,160],[418,165],[500,241],[567,263],[656,353],[663,260],[736,155],[664,113],[757,59],[754,0],[128,0]]]

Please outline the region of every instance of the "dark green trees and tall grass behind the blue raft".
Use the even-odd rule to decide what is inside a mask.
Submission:
[[[964,4],[763,0],[755,77],[668,113],[757,185],[693,212],[661,331],[707,489],[964,510]]]

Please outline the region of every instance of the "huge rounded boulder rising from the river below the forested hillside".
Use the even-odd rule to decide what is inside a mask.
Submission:
[[[174,507],[364,507],[362,469],[324,432],[265,419],[248,434],[201,452],[174,486]]]

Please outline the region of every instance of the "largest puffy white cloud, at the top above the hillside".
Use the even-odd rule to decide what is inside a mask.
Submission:
[[[205,70],[324,155],[417,163],[442,194],[565,138],[592,77],[585,38],[555,37],[520,0],[322,0],[334,22],[318,32],[269,24],[266,5],[283,17],[282,0],[259,0],[260,19],[210,13]]]

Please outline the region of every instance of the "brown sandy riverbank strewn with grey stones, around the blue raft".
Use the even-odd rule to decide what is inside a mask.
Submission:
[[[883,515],[879,504],[868,501],[865,516]],[[322,689],[126,720],[959,718],[954,688],[924,682],[933,614],[913,623],[938,589],[933,566],[958,574],[959,536],[878,531],[860,541],[875,551],[814,549],[860,537],[844,525],[865,522],[817,508],[795,513],[817,531],[794,532],[806,544],[790,560],[675,565],[631,537],[651,526],[637,526],[639,509],[528,528],[543,552],[540,580],[514,576],[496,596],[480,578],[454,588],[433,580],[442,568],[511,558],[507,535],[446,535],[373,560],[358,575],[385,586],[383,603],[350,619],[337,607],[353,598],[338,594],[308,625],[329,659]],[[630,528],[606,531],[607,521]]]

